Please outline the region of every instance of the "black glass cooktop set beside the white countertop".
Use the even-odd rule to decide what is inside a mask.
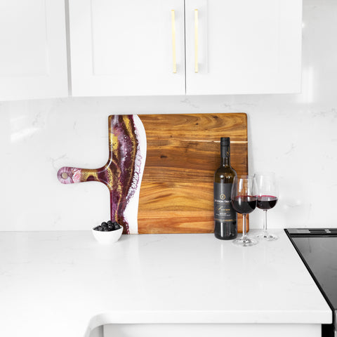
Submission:
[[[337,327],[337,228],[289,228],[285,232],[333,310]]]

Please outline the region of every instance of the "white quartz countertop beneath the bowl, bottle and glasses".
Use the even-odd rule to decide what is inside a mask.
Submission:
[[[107,323],[328,324],[283,230],[237,247],[213,234],[0,232],[0,336],[84,337]],[[250,232],[253,234],[253,231]]]

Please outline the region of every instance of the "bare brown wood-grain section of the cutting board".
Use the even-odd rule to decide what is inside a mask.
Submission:
[[[248,173],[246,114],[139,116],[147,137],[140,186],[138,232],[213,232],[213,175],[220,138],[230,137],[231,164]],[[238,216],[242,232],[242,217]]]

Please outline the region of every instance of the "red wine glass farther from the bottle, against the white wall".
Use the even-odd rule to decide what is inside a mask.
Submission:
[[[263,209],[263,231],[256,237],[267,241],[276,240],[278,237],[275,234],[270,234],[267,231],[267,210],[272,209],[279,199],[279,189],[277,187],[277,181],[275,173],[256,173],[256,184],[258,187],[258,208]]]

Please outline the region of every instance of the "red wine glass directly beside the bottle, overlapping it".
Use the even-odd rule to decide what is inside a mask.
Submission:
[[[242,237],[233,241],[238,246],[253,246],[257,244],[256,239],[252,239],[246,232],[246,215],[256,209],[256,181],[253,176],[234,177],[232,185],[232,206],[237,213],[243,217]]]

